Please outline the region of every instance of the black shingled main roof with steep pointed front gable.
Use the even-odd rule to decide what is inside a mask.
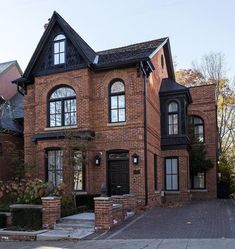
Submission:
[[[166,53],[166,63],[169,75],[174,78],[174,69],[170,54],[170,44],[168,38],[137,43],[125,47],[109,49],[105,51],[95,52],[78,34],[77,32],[56,12],[54,11],[50,22],[40,39],[38,46],[23,74],[19,79],[13,81],[22,85],[30,83],[32,80],[31,72],[38,61],[38,57],[47,42],[50,32],[54,25],[58,23],[65,33],[65,36],[71,40],[83,57],[87,66],[94,70],[105,70],[110,68],[118,68],[122,66],[134,65],[140,61],[150,61],[151,54],[157,49],[164,47]],[[167,45],[166,45],[167,44]],[[166,45],[166,46],[165,46]]]

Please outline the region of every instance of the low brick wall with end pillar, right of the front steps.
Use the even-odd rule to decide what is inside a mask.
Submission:
[[[109,230],[121,224],[128,217],[127,213],[136,213],[138,207],[134,195],[96,197],[94,200],[96,230]]]

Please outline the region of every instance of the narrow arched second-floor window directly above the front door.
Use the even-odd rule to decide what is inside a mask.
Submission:
[[[125,85],[122,81],[117,80],[110,85],[110,115],[111,123],[126,121],[126,100],[125,100]]]

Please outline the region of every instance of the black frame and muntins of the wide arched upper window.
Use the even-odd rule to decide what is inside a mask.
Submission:
[[[54,99],[51,99],[51,95],[58,89],[60,88],[69,88],[69,89],[72,89],[74,91],[74,96],[69,96],[69,97],[61,97],[61,98],[54,98]],[[75,112],[69,112],[70,114],[71,113],[75,113],[75,124],[65,124],[65,114],[68,113],[68,112],[65,112],[65,102],[68,101],[68,100],[75,100],[75,107],[76,107],[76,111]],[[51,126],[51,103],[53,102],[61,102],[61,113],[60,113],[60,116],[61,116],[61,125],[55,125],[55,126]],[[56,86],[55,88],[53,88],[49,94],[48,94],[48,98],[47,98],[47,127],[48,128],[58,128],[58,127],[70,127],[70,126],[76,126],[77,125],[77,95],[76,95],[76,92],[75,90],[68,86],[68,85],[59,85],[59,86]]]

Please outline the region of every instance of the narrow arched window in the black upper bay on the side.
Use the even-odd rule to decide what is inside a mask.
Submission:
[[[168,105],[168,134],[176,135],[179,133],[179,124],[178,124],[178,104],[177,102],[170,102]]]

